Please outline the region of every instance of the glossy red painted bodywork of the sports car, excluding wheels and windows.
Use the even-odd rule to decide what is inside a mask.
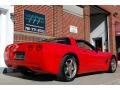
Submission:
[[[5,63],[13,69],[23,66],[32,71],[59,74],[63,57],[69,53],[77,57],[79,65],[77,74],[107,71],[109,69],[112,53],[79,48],[73,38],[69,38],[69,40],[71,45],[53,42],[11,44],[5,49]],[[16,60],[16,52],[25,52],[25,59]]]

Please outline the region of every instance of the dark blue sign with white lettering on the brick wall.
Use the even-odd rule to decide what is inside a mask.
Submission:
[[[36,33],[45,31],[45,15],[24,10],[24,29]]]

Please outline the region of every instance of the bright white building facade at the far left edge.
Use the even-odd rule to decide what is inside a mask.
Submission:
[[[14,6],[0,6],[0,68],[5,68],[4,50],[13,43],[14,36]]]

